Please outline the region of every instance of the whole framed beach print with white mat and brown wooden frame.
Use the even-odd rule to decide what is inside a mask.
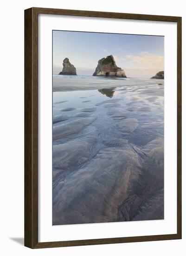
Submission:
[[[181,17],[25,10],[25,246],[181,239]]]

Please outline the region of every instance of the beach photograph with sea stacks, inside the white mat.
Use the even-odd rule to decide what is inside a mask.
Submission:
[[[164,219],[164,36],[52,31],[52,225]]]

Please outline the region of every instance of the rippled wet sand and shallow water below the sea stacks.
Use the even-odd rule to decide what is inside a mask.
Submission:
[[[163,94],[163,80],[53,76],[54,225],[164,218]]]

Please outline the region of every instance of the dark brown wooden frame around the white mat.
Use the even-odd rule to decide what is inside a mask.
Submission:
[[[177,233],[38,243],[38,14],[177,23]],[[181,239],[181,17],[29,8],[25,10],[25,246],[51,248]]]

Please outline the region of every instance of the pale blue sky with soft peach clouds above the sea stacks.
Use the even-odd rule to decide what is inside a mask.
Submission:
[[[164,37],[53,31],[53,74],[69,58],[79,75],[92,75],[98,60],[112,54],[127,77],[152,77],[164,70]]]

